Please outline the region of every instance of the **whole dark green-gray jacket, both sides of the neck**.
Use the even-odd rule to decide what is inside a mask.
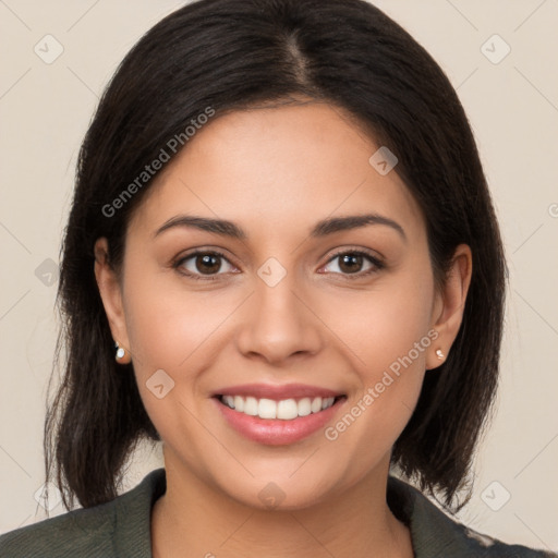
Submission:
[[[1,558],[151,558],[150,512],[167,488],[165,469],[94,508],[73,510],[0,536]],[[456,523],[425,496],[392,476],[388,504],[411,530],[416,558],[558,558],[506,545]]]

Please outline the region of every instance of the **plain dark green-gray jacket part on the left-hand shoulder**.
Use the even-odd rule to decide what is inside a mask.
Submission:
[[[165,492],[165,469],[116,499],[69,511],[0,536],[7,558],[150,557],[150,510]]]

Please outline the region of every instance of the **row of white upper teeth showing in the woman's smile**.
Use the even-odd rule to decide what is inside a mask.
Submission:
[[[315,397],[311,399],[310,397],[305,397],[299,401],[294,399],[275,401],[265,398],[256,399],[254,397],[222,396],[221,401],[231,409],[251,416],[292,421],[299,416],[307,416],[308,414],[319,413],[328,409],[333,404],[335,398]]]

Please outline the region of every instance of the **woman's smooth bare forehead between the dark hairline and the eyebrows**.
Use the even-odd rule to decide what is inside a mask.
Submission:
[[[130,231],[178,214],[306,230],[331,215],[376,213],[422,234],[423,217],[395,171],[369,162],[380,146],[342,109],[312,102],[239,110],[201,126],[154,179]]]

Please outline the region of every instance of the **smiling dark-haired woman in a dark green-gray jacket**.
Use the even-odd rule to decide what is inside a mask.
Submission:
[[[439,66],[360,0],[202,0],[87,132],[46,424],[2,556],[547,556],[468,530],[506,265]],[[116,356],[116,360],[114,360]],[[142,438],[165,469],[118,496]]]

